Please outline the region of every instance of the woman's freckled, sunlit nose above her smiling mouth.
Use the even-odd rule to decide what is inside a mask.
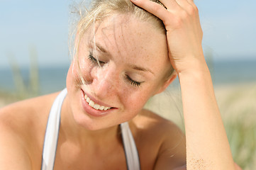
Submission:
[[[116,94],[118,86],[118,73],[115,68],[97,67],[92,72],[91,90],[99,99],[110,98]]]

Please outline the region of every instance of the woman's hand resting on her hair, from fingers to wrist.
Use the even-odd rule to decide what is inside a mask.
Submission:
[[[195,62],[204,62],[199,12],[192,0],[162,0],[165,7],[148,0],[132,1],[165,24],[169,58],[176,72],[195,69]]]

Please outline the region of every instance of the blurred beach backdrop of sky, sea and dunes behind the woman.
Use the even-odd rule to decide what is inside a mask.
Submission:
[[[71,58],[67,43],[69,5],[73,3],[0,0],[0,107],[65,88]],[[254,169],[256,1],[195,0],[195,3],[204,30],[204,53],[234,159],[243,169]],[[177,93],[171,92],[172,101],[180,101],[179,88],[173,91]],[[161,95],[157,97],[168,101],[168,92]],[[158,113],[182,127],[181,102],[170,108],[160,103],[157,106]],[[170,116],[170,109],[177,113]]]

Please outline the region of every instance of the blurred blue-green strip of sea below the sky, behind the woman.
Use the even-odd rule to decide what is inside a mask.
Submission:
[[[213,79],[213,85],[223,84],[256,84],[256,60],[243,61],[217,61],[208,63]],[[40,94],[50,94],[61,91],[66,86],[66,76],[69,66],[62,67],[40,67],[38,69]],[[21,69],[21,77],[24,84],[28,86],[30,81],[29,68]],[[174,82],[177,84],[178,80]],[[13,81],[11,68],[0,68],[0,91],[15,92],[16,85]]]

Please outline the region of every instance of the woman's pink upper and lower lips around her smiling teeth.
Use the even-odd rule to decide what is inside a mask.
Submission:
[[[89,103],[87,103],[87,101],[85,101],[84,94],[85,94],[84,91],[81,89],[82,107],[84,108],[84,111],[87,114],[91,115],[91,116],[94,116],[94,117],[104,117],[104,116],[108,115],[109,113],[111,113],[112,111],[117,109],[117,108],[110,108],[110,109],[108,109],[106,111],[100,111],[100,110],[96,110],[94,108],[91,108],[91,106],[89,106]],[[101,101],[95,100],[95,98],[89,96],[88,94],[87,94],[87,96],[89,98],[91,98],[92,101],[94,101],[95,103],[97,103],[97,104],[99,104],[101,106],[111,107],[111,106],[109,106],[109,105],[107,105],[105,103],[102,103]]]

